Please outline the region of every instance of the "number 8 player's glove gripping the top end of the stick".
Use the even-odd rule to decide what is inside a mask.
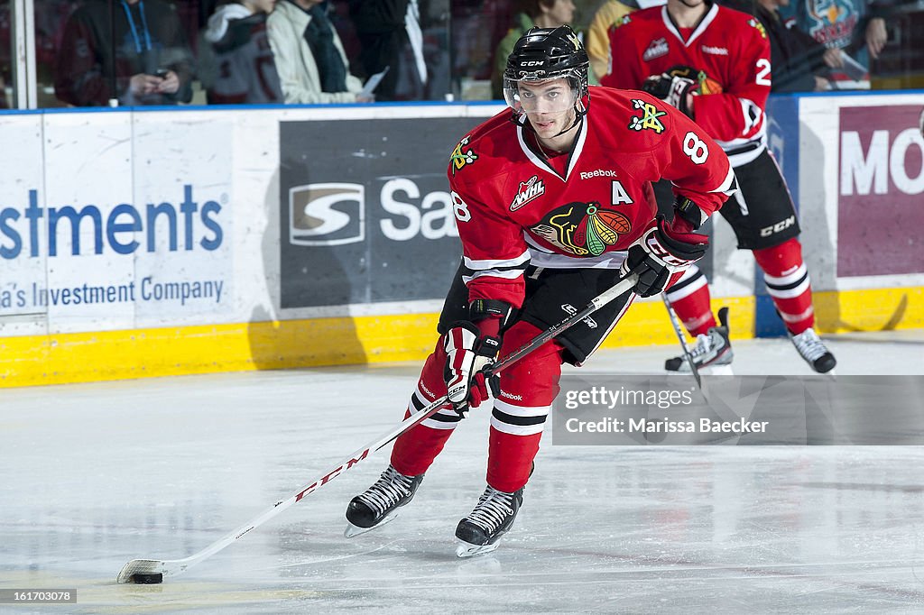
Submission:
[[[678,228],[688,228],[688,224],[680,223]],[[674,273],[701,259],[707,247],[709,237],[677,230],[659,214],[655,225],[628,247],[620,273],[624,277],[638,273],[634,289],[638,296],[657,295],[667,288]]]

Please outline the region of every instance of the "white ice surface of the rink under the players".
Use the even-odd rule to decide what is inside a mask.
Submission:
[[[924,373],[924,332],[830,345],[839,375]],[[810,373],[785,340],[735,350],[738,374]],[[610,350],[587,368],[660,373],[673,354]],[[0,611],[924,609],[917,447],[544,440],[501,548],[458,560],[456,522],[484,487],[487,411],[461,424],[415,500],[379,531],[347,540],[343,513],[390,447],[164,585],[116,585],[127,561],[204,549],[394,427],[418,372],[320,368],[0,392],[0,588],[78,589],[76,605]]]

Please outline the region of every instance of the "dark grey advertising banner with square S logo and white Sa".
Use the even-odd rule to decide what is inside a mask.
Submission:
[[[462,253],[446,165],[480,121],[280,122],[282,308],[442,298]]]

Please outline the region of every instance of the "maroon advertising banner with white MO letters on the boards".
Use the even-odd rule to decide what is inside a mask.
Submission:
[[[924,272],[919,104],[840,109],[837,275]]]

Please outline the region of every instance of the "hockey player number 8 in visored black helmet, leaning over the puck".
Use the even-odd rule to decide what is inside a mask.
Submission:
[[[637,296],[657,295],[706,250],[695,233],[735,189],[731,165],[686,115],[644,92],[588,87],[588,57],[567,26],[532,29],[505,71],[513,109],[459,141],[448,178],[463,262],[440,339],[407,412],[447,395],[395,440],[391,464],[350,501],[347,536],[389,520],[414,495],[468,407],[488,397],[482,368],[563,320],[629,271],[627,292],[500,374],[488,486],[459,522],[460,557],[494,549],[523,500],[561,365],[584,363]],[[671,223],[650,183],[675,186]]]

